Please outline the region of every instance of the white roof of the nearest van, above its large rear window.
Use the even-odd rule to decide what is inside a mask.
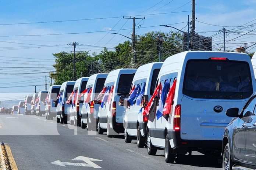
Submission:
[[[188,59],[209,59],[211,57],[228,58],[230,60],[250,61],[250,57],[245,53],[221,52],[221,51],[184,51],[168,57],[161,67],[159,77],[182,69],[182,64]]]

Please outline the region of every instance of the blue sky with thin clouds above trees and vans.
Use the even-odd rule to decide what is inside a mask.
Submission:
[[[233,50],[246,42],[250,46],[256,42],[256,31],[253,30],[256,25],[252,25],[256,23],[253,21],[256,19],[255,7],[256,0],[196,0],[196,32],[202,36],[216,34],[213,36],[213,49],[217,50],[223,46],[223,33],[219,30],[225,26],[225,29],[230,30],[226,36],[227,50]],[[45,75],[49,88],[49,72],[54,71],[52,54],[71,51],[72,47],[67,44],[72,41],[81,44],[77,47],[78,51],[90,50],[91,53],[98,53],[102,47],[113,49],[118,43],[128,40],[111,34],[118,32],[130,36],[132,19],[123,19],[122,16],[145,16],[145,20],[136,20],[136,34],[175,31],[159,26],[168,24],[187,31],[186,22],[188,15],[191,20],[191,8],[190,0],[2,1],[0,100],[22,99],[35,91],[34,85],[37,85],[37,91],[44,90]],[[239,30],[241,25],[252,26]],[[252,32],[243,35],[251,30]],[[248,50],[255,52],[256,48]]]

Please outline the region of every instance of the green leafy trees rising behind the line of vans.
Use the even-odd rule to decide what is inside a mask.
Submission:
[[[182,51],[183,36],[177,32],[149,32],[136,37],[135,68],[150,63],[158,62],[159,52],[159,34],[163,42],[161,51],[162,60]],[[60,52],[54,53],[56,69],[50,76],[55,80],[55,84],[62,84],[65,81],[73,80],[73,53]],[[90,55],[89,51],[76,53],[76,74],[79,77],[89,77],[96,73],[109,73],[112,70],[120,68],[129,68],[132,59],[132,44],[130,41],[124,41],[118,44],[113,51],[104,48],[100,53],[95,52]]]

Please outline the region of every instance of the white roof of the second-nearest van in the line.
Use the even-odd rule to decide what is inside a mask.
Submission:
[[[149,78],[152,68],[160,69],[162,65],[163,62],[153,62],[140,66],[134,75],[133,81],[140,80],[142,78]]]

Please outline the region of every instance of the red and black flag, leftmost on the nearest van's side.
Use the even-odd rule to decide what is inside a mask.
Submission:
[[[154,118],[156,116],[156,106],[158,104],[158,98],[160,96],[161,89],[162,89],[162,85],[160,83],[154,90],[154,93],[151,99],[149,100],[149,103],[147,104],[146,108],[143,111],[143,115],[145,114],[149,115],[149,121],[151,122],[154,121]]]

